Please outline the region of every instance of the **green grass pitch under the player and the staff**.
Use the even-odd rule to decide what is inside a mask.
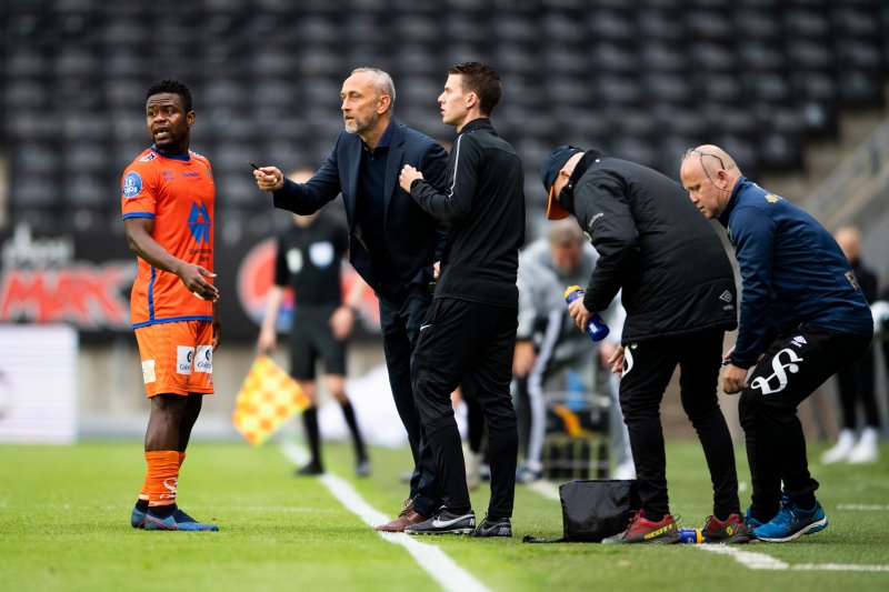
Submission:
[[[812,446],[810,458],[821,449]],[[373,508],[397,513],[407,450],[374,449],[373,474],[354,479],[344,444],[324,446],[328,470]],[[739,479],[749,480],[737,450]],[[196,442],[180,505],[218,533],[136,531],[129,513],[143,474],[141,443],[0,446],[0,590],[437,590],[401,545],[367,526],[317,479],[297,479],[279,448]],[[787,565],[758,570],[695,545],[526,544],[561,534],[559,503],[516,492],[511,540],[422,538],[490,590],[889,590],[889,446],[873,465],[821,466],[830,525],[788,544],[738,548]],[[711,490],[693,441],[668,444],[671,510],[700,526]],[[483,516],[487,485],[472,495]],[[749,491],[741,492],[741,504]],[[831,564],[882,566],[831,571]]]

